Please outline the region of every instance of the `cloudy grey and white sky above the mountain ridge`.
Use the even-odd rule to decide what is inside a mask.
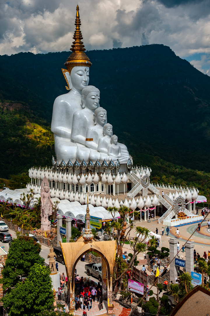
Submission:
[[[209,0],[0,0],[0,54],[69,51],[77,3],[87,50],[164,44],[210,75]]]

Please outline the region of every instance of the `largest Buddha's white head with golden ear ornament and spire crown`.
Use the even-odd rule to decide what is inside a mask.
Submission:
[[[89,83],[89,67],[92,65],[88,56],[84,53],[85,46],[83,45],[82,33],[80,31],[79,7],[77,5],[77,14],[75,20],[76,30],[73,36],[73,43],[70,50],[71,55],[65,62],[66,69],[62,69],[65,80],[68,84],[67,90],[76,90],[81,94],[82,89],[88,86]]]

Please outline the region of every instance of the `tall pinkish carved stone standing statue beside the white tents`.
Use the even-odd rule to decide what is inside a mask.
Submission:
[[[51,229],[51,222],[48,220],[49,215],[52,215],[53,202],[50,197],[49,182],[46,177],[41,184],[41,231]]]

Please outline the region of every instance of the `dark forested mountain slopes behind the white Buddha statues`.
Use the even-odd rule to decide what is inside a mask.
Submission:
[[[69,54],[0,56],[0,186],[26,184],[30,167],[51,165],[52,108],[67,93],[61,68]],[[152,181],[195,185],[208,197],[209,76],[163,45],[87,55],[89,84],[100,89],[100,106],[134,164],[150,166]]]

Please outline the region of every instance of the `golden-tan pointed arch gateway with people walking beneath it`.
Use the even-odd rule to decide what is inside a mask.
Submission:
[[[87,214],[86,214],[87,216]],[[87,222],[86,222],[87,224]],[[106,283],[107,272],[107,305],[108,314],[113,314],[114,305],[112,303],[112,277],[116,256],[116,241],[95,241],[83,240],[81,236],[75,243],[60,243],[68,279],[68,291],[70,292],[70,313],[74,314],[74,271],[79,259],[87,252],[95,251],[102,258],[102,279]]]

